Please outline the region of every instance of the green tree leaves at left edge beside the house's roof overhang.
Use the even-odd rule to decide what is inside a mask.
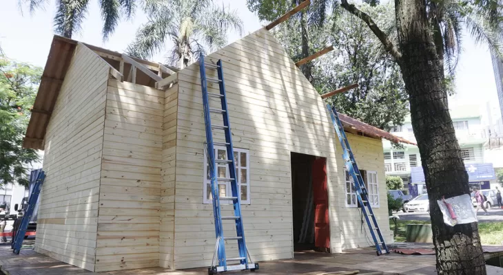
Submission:
[[[0,56],[0,184],[28,185],[28,164],[39,159],[22,148],[42,69]]]

